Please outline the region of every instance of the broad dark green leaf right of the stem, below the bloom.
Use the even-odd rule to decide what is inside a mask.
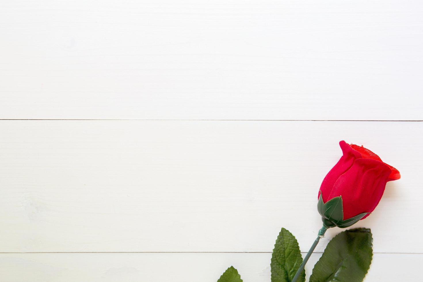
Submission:
[[[327,244],[310,282],[362,282],[373,257],[372,241],[367,228],[339,233]]]

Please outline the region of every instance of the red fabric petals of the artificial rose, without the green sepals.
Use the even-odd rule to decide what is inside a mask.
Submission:
[[[341,196],[343,219],[371,213],[382,198],[387,181],[401,177],[372,151],[345,141],[339,142],[343,156],[326,175],[320,186],[324,203]],[[365,214],[364,219],[369,214]]]

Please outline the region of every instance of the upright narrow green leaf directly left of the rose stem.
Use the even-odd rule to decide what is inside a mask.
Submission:
[[[272,282],[291,282],[302,263],[301,253],[297,239],[285,228],[277,236],[275,249],[273,249],[270,268]],[[305,282],[303,270],[297,282]]]

